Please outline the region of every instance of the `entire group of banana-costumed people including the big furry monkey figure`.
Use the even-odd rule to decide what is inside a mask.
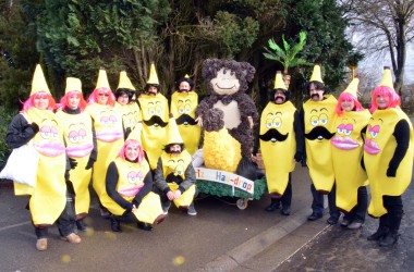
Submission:
[[[207,168],[255,181],[259,174],[253,162],[260,149],[270,196],[266,211],[280,209],[290,215],[291,173],[295,162],[306,161],[313,182],[309,221],[322,217],[328,195],[329,224],[337,224],[342,212],[342,226],[360,228],[368,212],[380,218],[368,240],[394,244],[414,149],[413,128],[399,107],[390,70],[385,70],[373,91],[370,111],[357,100],[357,78],[338,100],[328,95],[319,65],[307,84],[309,99],[299,111],[290,101],[289,83],[278,72],[260,118],[245,94],[254,73],[245,62],[206,60],[203,77],[210,96],[199,102],[185,76],[178,82],[169,107],[154,64],[139,96],[125,72],[120,73],[113,94],[105,70],[99,70],[87,101],[81,81],[69,77],[57,106],[38,65],[31,97],[7,133],[10,148],[33,145],[40,154],[36,186],[14,183],[15,195],[29,195],[36,248],[47,249],[47,230],[53,223],[62,239],[81,242],[76,233],[87,228],[83,220],[90,203],[90,180],[101,215],[110,220],[113,232],[121,232],[121,220],[133,220],[150,231],[163,221],[172,202],[196,215],[193,163],[200,127]]]

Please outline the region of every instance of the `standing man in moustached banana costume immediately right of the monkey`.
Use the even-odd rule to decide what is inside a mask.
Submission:
[[[289,215],[292,202],[291,173],[294,161],[303,158],[304,139],[299,112],[289,101],[290,92],[280,71],[276,74],[275,88],[269,98],[261,112],[258,136],[271,198],[266,211],[275,211],[281,203],[281,213]],[[257,145],[254,150],[256,153]]]

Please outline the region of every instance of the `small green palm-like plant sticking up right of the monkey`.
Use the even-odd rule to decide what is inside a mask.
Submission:
[[[296,58],[296,54],[302,51],[303,47],[306,44],[306,33],[301,32],[299,34],[299,42],[294,46],[288,44],[282,35],[283,48],[279,47],[273,38],[269,39],[269,48],[265,47],[266,53],[263,53],[266,59],[280,62],[283,65],[283,74],[289,73],[289,67],[299,66],[299,65],[312,65],[306,60]]]

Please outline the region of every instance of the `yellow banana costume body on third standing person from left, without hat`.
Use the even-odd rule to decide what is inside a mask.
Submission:
[[[122,131],[122,116],[115,107],[93,103],[86,110],[93,121],[98,144],[98,158],[94,163],[93,186],[100,198],[106,194],[105,178],[108,165],[121,150],[124,139]]]

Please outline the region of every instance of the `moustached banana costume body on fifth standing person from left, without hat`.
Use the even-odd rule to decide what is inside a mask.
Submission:
[[[157,94],[157,96],[142,95],[138,98],[138,101],[143,120],[143,148],[147,152],[149,166],[155,170],[157,169],[158,158],[161,156],[162,149],[167,145],[167,126],[148,126],[144,121],[149,121],[153,116],[159,116],[163,122],[168,123],[168,101],[161,94]]]

